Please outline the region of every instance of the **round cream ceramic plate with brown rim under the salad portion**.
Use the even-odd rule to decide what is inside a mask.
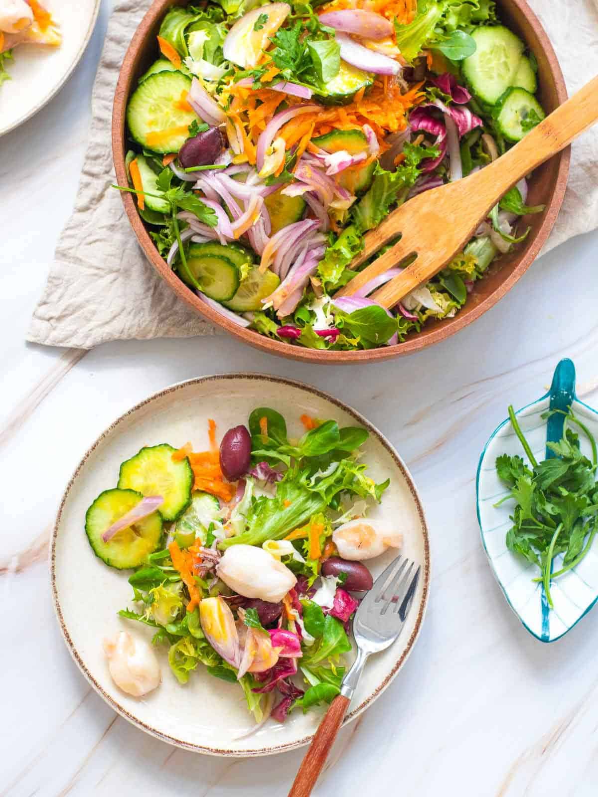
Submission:
[[[302,433],[301,414],[334,418],[342,425],[364,426],[370,432],[363,461],[376,481],[391,479],[380,514],[399,519],[406,556],[422,564],[422,578],[399,638],[384,653],[370,658],[345,722],[354,719],[391,682],[419,633],[430,583],[430,551],[423,509],[411,476],[390,443],[364,418],[329,395],[301,383],[262,375],[224,375],[193,379],[156,393],[124,414],[100,436],[73,475],[58,512],[50,550],[53,599],[65,642],[85,677],[112,708],[139,728],[182,748],[221,756],[263,756],[307,744],[320,713],[293,713],[285,724],[270,720],[249,738],[253,720],[238,686],[207,674],[202,667],[179,685],[159,653],[162,683],[144,699],[120,692],[108,673],[102,638],[127,628],[136,634],[151,629],[116,614],[130,604],[128,573],[105,567],[96,559],[84,532],[85,510],[102,490],[116,485],[120,462],[142,446],[190,440],[195,450],[207,448],[207,420],[218,434],[245,423],[256,406],[272,406],[284,414],[289,435]],[[372,559],[378,575],[394,556]]]

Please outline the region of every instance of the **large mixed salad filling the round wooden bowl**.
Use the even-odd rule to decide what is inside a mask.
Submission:
[[[494,0],[219,3],[168,11],[128,100],[120,187],[168,265],[234,323],[299,346],[391,345],[454,316],[525,238],[517,218],[543,210],[525,179],[391,311],[368,295],[399,266],[334,294],[391,210],[544,118],[533,53]]]

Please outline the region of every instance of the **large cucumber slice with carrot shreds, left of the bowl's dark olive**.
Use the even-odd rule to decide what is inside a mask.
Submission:
[[[159,72],[140,83],[127,106],[128,129],[137,143],[153,152],[179,151],[198,118],[177,105],[190,88],[191,78],[181,72]]]

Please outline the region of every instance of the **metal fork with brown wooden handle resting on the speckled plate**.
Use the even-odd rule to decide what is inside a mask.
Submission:
[[[372,653],[386,650],[405,624],[420,571],[420,565],[399,554],[378,576],[372,589],[361,601],[353,620],[353,635],[357,645],[355,662],[343,678],[340,695],[332,701],[313,737],[289,797],[309,797],[312,793],[355,693],[365,662]]]

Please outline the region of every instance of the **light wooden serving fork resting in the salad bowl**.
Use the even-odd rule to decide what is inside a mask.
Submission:
[[[335,296],[351,296],[366,283],[416,254],[403,272],[369,297],[394,307],[418,285],[439,273],[473,236],[509,188],[564,149],[598,121],[598,77],[546,116],[525,138],[489,166],[455,183],[425,191],[394,210],[365,238],[356,269],[381,246],[401,239],[348,282]]]

